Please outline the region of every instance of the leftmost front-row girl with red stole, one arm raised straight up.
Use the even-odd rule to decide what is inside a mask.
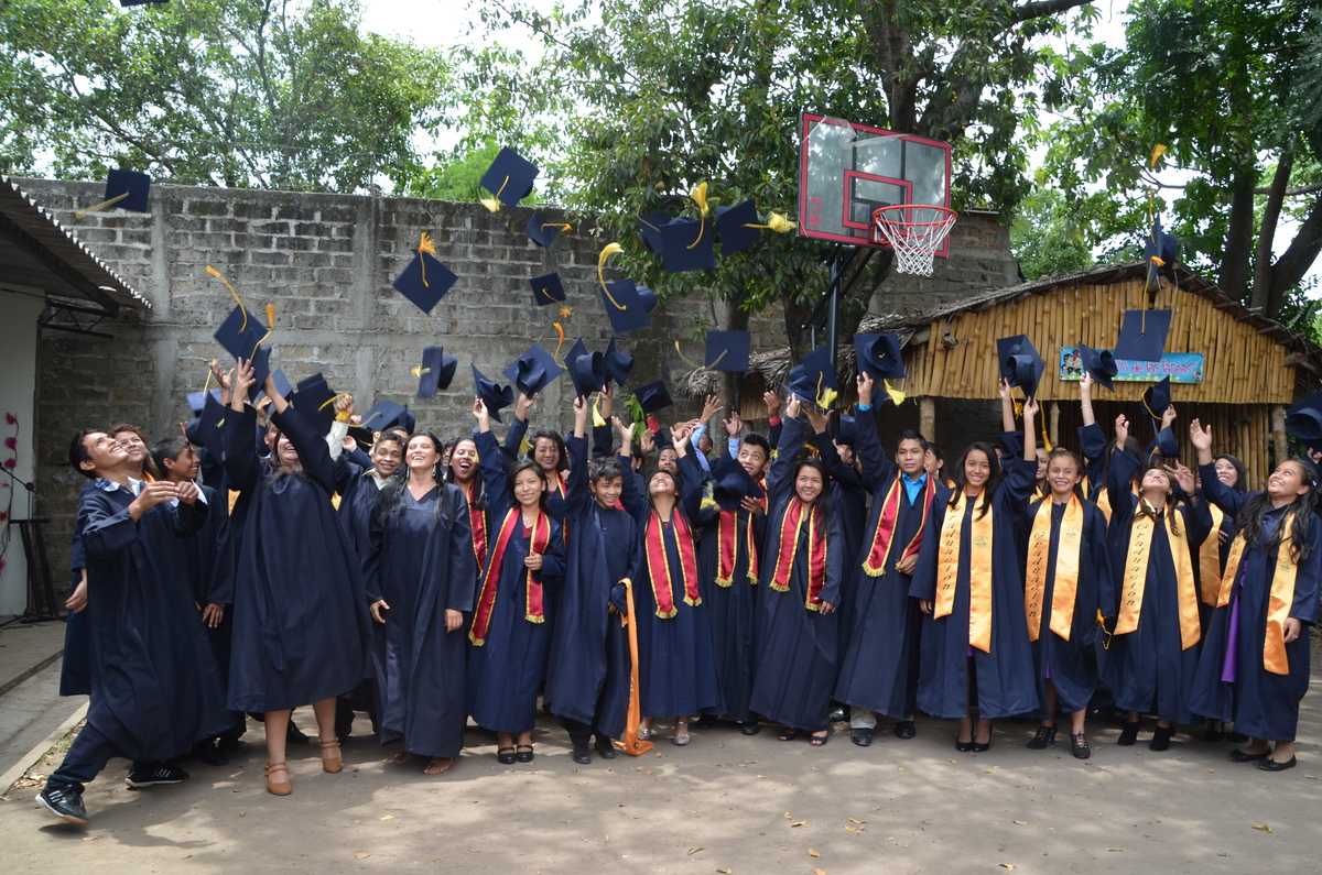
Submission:
[[[551,517],[541,465],[520,459],[506,473],[481,400],[473,415],[493,526],[468,630],[468,712],[496,732],[502,765],[531,763],[537,693],[551,645],[550,591],[564,580],[564,535]]]

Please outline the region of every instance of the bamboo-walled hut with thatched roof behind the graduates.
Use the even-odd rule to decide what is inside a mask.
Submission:
[[[1010,288],[981,292],[914,316],[870,316],[859,330],[900,336],[907,377],[895,383],[911,402],[883,414],[887,431],[917,427],[947,448],[986,438],[999,426],[995,338],[1027,334],[1047,362],[1038,387],[1042,422],[1051,441],[1073,445],[1081,424],[1077,379],[1068,379],[1063,353],[1080,342],[1112,349],[1126,309],[1173,311],[1166,353],[1202,356],[1202,367],[1173,382],[1175,430],[1188,459],[1187,423],[1195,416],[1212,427],[1218,451],[1237,455],[1249,471],[1251,488],[1288,455],[1285,408],[1314,391],[1322,375],[1322,349],[1305,336],[1264,319],[1228,297],[1215,283],[1182,264],[1162,270],[1159,288],[1146,288],[1146,264],[1099,266]],[[744,375],[740,412],[765,416],[761,393],[784,379],[789,350],[755,356]],[[837,361],[846,400],[855,363],[850,344]],[[1159,379],[1159,377],[1153,377]],[[1093,411],[1109,434],[1121,412],[1141,420],[1140,399],[1150,382],[1114,383],[1114,393],[1093,389]],[[681,391],[713,391],[711,374],[694,371]],[[1150,432],[1136,422],[1136,436]],[[949,453],[948,453],[949,455]]]

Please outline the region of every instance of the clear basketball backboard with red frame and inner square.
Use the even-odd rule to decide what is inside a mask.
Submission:
[[[800,116],[798,234],[876,246],[873,213],[896,204],[951,206],[951,145],[804,112]],[[947,258],[949,239],[936,251]]]

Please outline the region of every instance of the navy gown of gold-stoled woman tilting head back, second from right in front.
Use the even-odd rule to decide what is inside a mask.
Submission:
[[[1129,480],[1140,468],[1141,463],[1133,453],[1122,449],[1112,453],[1107,490],[1112,496],[1108,538],[1116,601],[1110,611],[1103,608],[1107,616],[1118,617],[1120,613],[1118,601],[1124,593],[1129,534],[1140,501],[1138,496],[1129,492]],[[1188,543],[1192,563],[1198,562],[1198,545],[1212,526],[1204,502],[1196,506],[1166,505],[1158,525],[1153,527],[1138,628],[1110,638],[1105,679],[1116,697],[1116,707],[1124,711],[1155,714],[1158,720],[1191,723],[1194,711],[1190,697],[1194,689],[1194,673],[1198,669],[1198,648],[1182,648],[1178,578],[1166,533],[1165,513],[1179,514],[1181,534]]]

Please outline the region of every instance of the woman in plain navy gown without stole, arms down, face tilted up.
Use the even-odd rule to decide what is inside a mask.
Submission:
[[[473,608],[468,502],[440,480],[440,439],[419,432],[405,468],[381,489],[371,515],[364,578],[371,617],[378,735],[403,742],[395,763],[428,759],[423,772],[449,769],[468,722],[464,613]]]

